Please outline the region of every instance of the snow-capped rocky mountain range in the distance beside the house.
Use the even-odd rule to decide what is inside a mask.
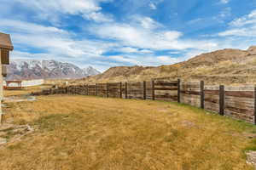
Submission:
[[[74,79],[100,74],[93,67],[81,69],[71,63],[56,60],[14,59],[7,67],[8,80]]]

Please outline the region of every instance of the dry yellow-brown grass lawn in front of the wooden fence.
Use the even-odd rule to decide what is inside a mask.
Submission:
[[[36,130],[0,146],[4,170],[253,169],[253,125],[187,105],[68,95],[6,105],[5,120]]]

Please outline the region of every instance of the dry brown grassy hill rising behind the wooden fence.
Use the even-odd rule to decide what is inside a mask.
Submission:
[[[85,82],[149,81],[152,78],[181,78],[183,81],[204,80],[208,84],[256,83],[256,47],[247,50],[222,49],[201,54],[174,65],[158,67],[113,67]]]

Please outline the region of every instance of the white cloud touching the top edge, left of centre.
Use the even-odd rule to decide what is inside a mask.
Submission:
[[[15,0],[18,3],[36,11],[39,18],[57,20],[58,14],[81,15],[87,20],[110,21],[108,14],[102,14],[100,3],[113,0]]]

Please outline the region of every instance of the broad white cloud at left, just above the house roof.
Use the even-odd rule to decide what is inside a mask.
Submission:
[[[75,40],[70,32],[19,20],[1,20],[0,30],[11,34],[16,47],[38,48],[55,57],[93,57],[115,46],[110,42],[92,41],[86,38]]]

